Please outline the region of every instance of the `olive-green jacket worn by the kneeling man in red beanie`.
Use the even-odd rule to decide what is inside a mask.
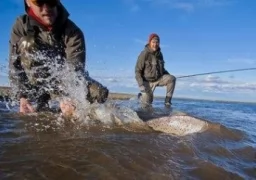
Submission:
[[[147,44],[140,53],[135,67],[135,78],[138,85],[142,86],[143,81],[157,81],[164,74],[169,73],[164,68],[164,59],[161,49],[159,48],[156,52],[153,52]]]

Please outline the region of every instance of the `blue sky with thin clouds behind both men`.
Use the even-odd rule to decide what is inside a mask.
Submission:
[[[111,92],[138,93],[135,64],[150,33],[160,36],[174,97],[256,102],[255,0],[61,0],[83,31],[86,69]],[[8,41],[22,0],[1,0],[0,85],[8,85]],[[155,95],[165,96],[165,87]]]

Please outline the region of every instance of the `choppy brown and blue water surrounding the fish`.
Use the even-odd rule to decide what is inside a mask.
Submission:
[[[136,109],[136,101],[115,101]],[[162,100],[155,113],[166,113]],[[256,105],[174,100],[220,128],[187,136],[78,127],[0,104],[0,179],[255,179]],[[168,111],[168,110],[167,110]]]

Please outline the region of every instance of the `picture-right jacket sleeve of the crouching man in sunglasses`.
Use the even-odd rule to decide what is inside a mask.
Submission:
[[[73,22],[68,22],[68,33],[66,34],[66,59],[75,71],[84,74],[86,62],[86,45],[84,34]]]

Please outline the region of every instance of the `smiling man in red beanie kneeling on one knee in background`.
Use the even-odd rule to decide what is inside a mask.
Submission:
[[[160,38],[155,33],[150,34],[148,43],[138,57],[135,76],[141,91],[139,98],[144,105],[152,104],[153,93],[157,86],[166,86],[165,105],[171,105],[176,78],[164,67]]]

